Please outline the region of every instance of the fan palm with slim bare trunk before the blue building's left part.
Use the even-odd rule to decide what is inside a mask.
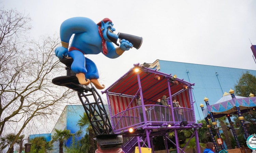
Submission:
[[[58,130],[54,128],[55,132],[52,136],[52,143],[59,141],[59,153],[63,153],[63,143],[67,142],[68,138],[72,137],[73,134],[70,133],[70,130],[66,128],[64,130]]]

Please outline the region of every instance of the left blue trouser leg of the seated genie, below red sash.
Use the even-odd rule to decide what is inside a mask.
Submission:
[[[72,50],[68,53],[68,56],[73,58],[73,63],[71,64],[71,70],[75,73],[87,73],[85,68],[85,58],[84,54],[78,50]],[[88,79],[88,78],[87,78]]]

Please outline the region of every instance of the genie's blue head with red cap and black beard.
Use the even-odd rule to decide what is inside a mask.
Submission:
[[[115,31],[115,28],[113,28],[114,24],[109,18],[104,18],[102,21],[97,23],[97,25],[101,27],[103,38],[106,41],[113,42],[114,44],[119,46],[117,44],[118,35],[113,33]]]

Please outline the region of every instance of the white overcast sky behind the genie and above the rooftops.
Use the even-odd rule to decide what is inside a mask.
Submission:
[[[64,20],[77,16],[96,23],[108,17],[116,33],[143,37],[139,50],[130,49],[116,59],[88,55],[106,87],[133,64],[157,59],[256,70],[248,39],[256,45],[255,0],[0,1],[5,9],[30,14],[30,36],[35,39],[59,33]]]

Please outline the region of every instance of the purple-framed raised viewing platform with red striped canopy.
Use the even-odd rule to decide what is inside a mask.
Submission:
[[[136,68],[138,68],[139,71],[134,73],[134,69]],[[153,81],[149,79],[151,77],[150,74],[159,75],[161,77],[160,82],[158,82],[158,84],[161,84],[161,86],[160,85],[157,86],[158,85],[157,81],[153,83]],[[140,76],[142,76],[142,78]],[[137,81],[134,80],[135,77],[137,78]],[[201,128],[202,124],[196,123],[196,119],[195,119],[193,98],[191,95],[191,88],[192,88],[191,86],[193,86],[194,84],[186,82],[183,79],[176,78],[176,81],[179,82],[179,85],[175,87],[170,83],[170,80],[172,77],[173,76],[171,74],[162,73],[157,70],[140,66],[138,63],[138,64],[134,64],[133,68],[131,68],[120,79],[114,82],[110,87],[106,88],[104,91],[101,91],[102,94],[106,93],[106,96],[107,96],[109,110],[110,110],[111,125],[114,133],[123,134],[124,138],[128,137],[127,139],[128,141],[126,142],[126,144],[123,145],[124,147],[123,151],[125,153],[131,153],[133,151],[132,149],[133,148],[135,149],[134,146],[130,146],[130,145],[129,145],[129,148],[132,148],[132,149],[129,149],[128,147],[125,148],[125,146],[128,146],[127,144],[134,144],[134,145],[137,144],[140,153],[141,153],[141,147],[146,146],[148,148],[152,148],[153,146],[152,139],[154,136],[158,136],[158,135],[162,135],[163,138],[165,139],[165,146],[166,146],[167,153],[169,152],[167,140],[169,140],[171,143],[173,143],[176,146],[177,153],[180,153],[180,152],[185,153],[184,149],[182,150],[181,148],[179,148],[179,141],[178,141],[178,135],[177,135],[177,131],[185,130],[185,129],[194,129],[194,133],[190,137],[190,139],[193,136],[195,136],[197,151],[200,152],[197,128]],[[142,80],[143,80],[143,83],[141,83]],[[122,84],[122,81],[124,81],[125,83]],[[124,85],[127,85],[129,87]],[[158,89],[155,91],[153,96],[152,96],[153,89],[151,88],[151,85],[152,87],[154,86],[156,89]],[[187,86],[187,89],[182,89],[183,85]],[[127,90],[129,90],[129,92]],[[173,108],[172,102],[171,102],[171,99],[173,97],[171,94],[171,90],[173,91],[173,96],[182,94],[187,90],[188,101],[186,102],[189,103],[189,107],[191,108],[184,108],[184,107]],[[145,97],[143,97],[144,96],[143,93]],[[153,99],[157,99],[156,97],[157,96],[159,97],[159,95],[161,94],[169,95],[169,97],[167,98],[168,99],[167,102],[168,102],[168,105],[170,105],[171,107],[167,107],[163,105],[155,105],[155,104],[145,105],[145,101],[152,103],[154,101]],[[141,105],[130,108],[131,104],[134,102],[134,99],[137,97],[137,95],[140,95],[141,97]],[[129,102],[127,103],[126,108],[124,108],[125,110],[121,112],[113,113],[112,111],[113,109],[111,109],[111,102],[110,102],[111,99],[109,98],[110,96],[127,97]],[[112,101],[114,100],[112,99]],[[119,105],[122,105],[122,104],[119,104]],[[143,120],[141,120],[140,115],[138,115],[139,108],[141,108],[142,110]],[[180,115],[179,112],[182,113],[182,118],[179,117]],[[169,114],[171,116],[168,116]],[[129,128],[133,128],[134,132],[129,133],[128,132]],[[174,132],[175,143],[172,142],[167,137],[167,134],[169,132]],[[137,138],[137,143],[131,143],[131,141],[135,141],[136,138]],[[142,146],[140,142],[143,142]],[[152,152],[154,153],[154,148],[152,148]]]

